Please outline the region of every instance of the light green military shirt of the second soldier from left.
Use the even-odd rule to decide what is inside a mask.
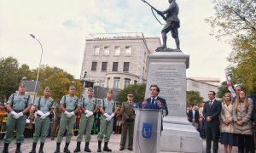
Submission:
[[[49,97],[48,99],[44,99],[44,96],[42,96],[40,99],[40,108],[38,108],[43,113],[47,113],[50,109],[53,109],[54,106],[54,99]],[[39,99],[36,100],[35,106],[39,106]]]

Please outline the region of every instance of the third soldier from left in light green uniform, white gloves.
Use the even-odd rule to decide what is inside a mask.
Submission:
[[[74,122],[76,121],[76,115],[75,113],[80,111],[80,100],[75,95],[76,88],[72,85],[68,89],[68,94],[64,95],[61,98],[60,102],[60,108],[61,108],[61,124],[60,129],[57,136],[57,143],[56,143],[56,150],[55,153],[60,153],[60,146],[61,146],[61,140],[63,138],[63,135],[67,128],[67,135],[66,135],[66,144],[64,147],[63,152],[70,153],[70,150],[68,150],[68,145],[70,143],[70,139],[72,136],[72,130]]]

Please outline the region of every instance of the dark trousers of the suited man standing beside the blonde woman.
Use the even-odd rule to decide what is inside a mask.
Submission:
[[[211,153],[212,141],[213,153],[218,153],[219,125],[215,122],[205,122],[205,128],[207,138],[207,153]]]

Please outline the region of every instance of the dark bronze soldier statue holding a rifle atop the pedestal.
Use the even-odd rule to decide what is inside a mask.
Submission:
[[[163,45],[160,46],[159,48],[157,48],[155,51],[156,52],[169,52],[169,51],[173,51],[173,49],[167,48],[166,46],[166,41],[167,41],[167,33],[169,31],[171,31],[172,37],[175,40],[176,43],[176,51],[180,51],[179,48],[179,38],[178,38],[178,31],[177,28],[180,27],[180,21],[177,17],[179,8],[178,5],[176,3],[176,0],[168,0],[170,5],[169,8],[167,8],[164,11],[159,11],[156,8],[154,8],[152,5],[150,5],[148,2],[146,2],[145,0],[142,0],[144,3],[147,3],[151,9],[154,9],[154,11],[157,12],[157,14],[160,14],[160,16],[166,20],[166,25],[164,26],[164,28],[161,31],[162,34],[162,39],[163,39]],[[152,11],[153,12],[153,11]],[[153,13],[154,14],[154,13]],[[166,14],[166,16],[165,16]],[[155,17],[155,16],[154,16]],[[157,18],[156,18],[157,19]],[[158,20],[158,19],[157,19]],[[159,20],[158,20],[159,21]],[[160,22],[160,21],[159,21]],[[160,23],[161,24],[161,23]]]

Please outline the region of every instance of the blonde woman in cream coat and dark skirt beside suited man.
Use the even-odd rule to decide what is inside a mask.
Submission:
[[[224,104],[220,113],[221,144],[224,144],[225,153],[231,153],[232,146],[236,145],[236,135],[233,134],[233,105],[232,94],[224,94]]]

